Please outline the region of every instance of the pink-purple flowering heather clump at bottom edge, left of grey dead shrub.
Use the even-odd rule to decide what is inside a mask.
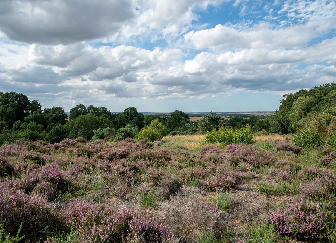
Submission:
[[[142,235],[146,242],[169,240],[173,235],[149,210],[112,209],[90,203],[73,204],[66,224],[79,230],[80,242],[122,242],[128,234]]]

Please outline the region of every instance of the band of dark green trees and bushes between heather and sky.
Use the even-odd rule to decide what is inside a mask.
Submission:
[[[328,83],[309,90],[285,94],[274,115],[234,117],[224,120],[216,112],[203,114],[199,122],[190,122],[188,114],[176,110],[168,117],[143,115],[135,107],[112,113],[106,107],[79,104],[68,116],[61,107],[42,110],[38,100],[27,95],[0,92],[0,144],[17,139],[41,139],[57,143],[64,138],[87,140],[121,140],[135,137],[144,128],[156,129],[161,135],[205,133],[221,125],[233,129],[249,125],[254,132],[295,133],[306,126],[323,136],[336,130],[336,84]]]

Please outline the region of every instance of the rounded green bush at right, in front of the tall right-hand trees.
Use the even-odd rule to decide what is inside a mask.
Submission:
[[[293,145],[303,149],[313,148],[324,144],[322,135],[318,130],[307,126],[299,129],[293,135]]]

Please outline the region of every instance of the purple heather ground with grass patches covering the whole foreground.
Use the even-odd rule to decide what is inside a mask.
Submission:
[[[335,242],[333,148],[280,134],[254,144],[205,139],[3,145],[1,240]]]

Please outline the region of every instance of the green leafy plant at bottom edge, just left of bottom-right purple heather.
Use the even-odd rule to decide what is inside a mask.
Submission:
[[[246,242],[248,243],[273,243],[275,242],[274,234],[267,229],[264,222],[260,225],[257,221],[253,220],[252,224],[245,224],[245,230],[247,231]]]

